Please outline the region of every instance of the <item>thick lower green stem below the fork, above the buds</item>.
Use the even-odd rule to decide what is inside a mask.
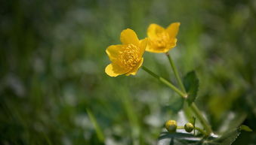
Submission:
[[[190,105],[191,109],[193,110],[193,113],[196,114],[197,118],[199,119],[199,121],[202,123],[202,125],[205,128],[206,131],[206,135],[211,134],[211,126],[208,124],[208,122],[206,121],[206,119],[202,116],[201,111],[199,110],[199,108],[196,106],[196,104],[193,102]]]

